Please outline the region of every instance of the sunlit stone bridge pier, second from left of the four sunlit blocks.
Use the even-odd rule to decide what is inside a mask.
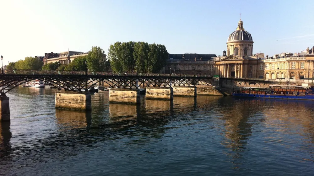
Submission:
[[[111,88],[109,102],[141,104],[141,92],[139,89]]]

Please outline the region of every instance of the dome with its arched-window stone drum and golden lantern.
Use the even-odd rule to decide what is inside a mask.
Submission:
[[[232,32],[227,41],[227,56],[252,56],[253,39],[250,33],[243,28],[243,21],[240,19],[238,27]]]

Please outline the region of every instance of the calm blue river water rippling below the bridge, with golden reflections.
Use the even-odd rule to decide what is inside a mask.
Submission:
[[[0,126],[0,175],[313,175],[314,102],[174,97],[141,105],[92,95],[55,109],[55,91],[18,87]]]

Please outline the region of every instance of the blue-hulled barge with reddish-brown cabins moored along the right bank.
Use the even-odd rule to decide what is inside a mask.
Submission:
[[[242,87],[240,91],[233,92],[235,97],[247,98],[279,98],[314,100],[314,87],[306,89],[300,86],[274,86],[277,88]]]

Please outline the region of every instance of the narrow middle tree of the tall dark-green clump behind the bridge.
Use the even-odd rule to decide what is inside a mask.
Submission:
[[[145,62],[148,60],[149,44],[145,42],[135,42],[133,57],[135,60],[135,69],[137,73],[147,72]]]

